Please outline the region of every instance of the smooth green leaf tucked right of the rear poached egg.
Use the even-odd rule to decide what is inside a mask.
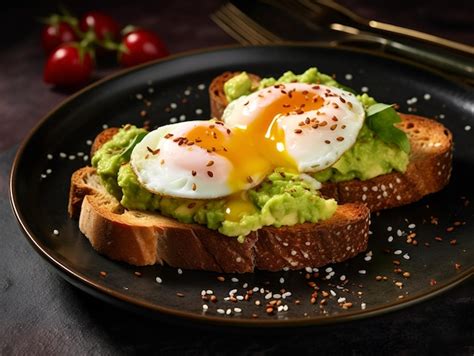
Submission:
[[[401,122],[392,105],[377,103],[367,109],[367,126],[386,143],[397,145],[403,152],[410,152],[410,142],[405,132],[394,124]]]

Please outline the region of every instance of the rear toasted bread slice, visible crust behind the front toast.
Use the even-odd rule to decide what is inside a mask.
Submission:
[[[224,83],[240,72],[226,72],[209,86],[212,117],[221,118],[228,102]],[[251,74],[249,74],[251,75]],[[253,80],[258,76],[252,74]],[[411,144],[410,162],[405,173],[392,172],[372,179],[324,183],[322,194],[339,203],[365,203],[371,211],[394,208],[420,200],[445,187],[451,176],[453,137],[437,121],[400,114],[398,125]]]

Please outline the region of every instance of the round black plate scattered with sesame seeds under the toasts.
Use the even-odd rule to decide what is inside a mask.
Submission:
[[[382,102],[398,103],[402,112],[437,118],[454,133],[456,150],[449,186],[416,204],[374,216],[368,255],[321,268],[316,279],[306,279],[305,271],[255,272],[226,275],[221,282],[216,273],[180,273],[170,267],[136,268],[110,261],[93,251],[80,233],[78,222],[67,217],[69,178],[74,170],[87,163],[82,155],[90,149],[88,140],[103,125],[141,125],[150,120],[156,126],[175,120],[205,119],[209,115],[207,86],[223,71],[247,70],[268,76],[288,69],[300,72],[314,65],[336,74],[341,83],[355,90],[365,87]],[[18,152],[11,175],[11,199],[20,225],[36,250],[74,285],[115,304],[153,316],[247,326],[322,324],[361,318],[424,300],[472,275],[474,208],[469,202],[474,192],[474,130],[470,131],[471,126],[474,128],[471,88],[387,57],[301,46],[198,52],[120,73],[83,90],[53,110]],[[406,242],[410,233],[416,234],[417,246]],[[390,236],[392,242],[388,241]],[[401,254],[396,254],[397,250]],[[401,265],[394,265],[394,260]],[[409,272],[410,277],[394,272],[394,268]],[[325,277],[332,274],[331,269],[335,274],[327,280]],[[101,271],[107,275],[101,276]],[[156,282],[157,276],[162,279],[161,284]],[[378,281],[377,276],[386,280]],[[232,281],[232,278],[236,279]],[[308,282],[311,281],[320,287],[315,304],[310,303],[313,288]],[[254,287],[258,291],[249,302],[224,300],[234,288],[238,295],[244,295],[244,290]],[[267,315],[267,292],[261,294],[261,288],[277,294],[282,294],[282,288],[290,291],[291,297],[282,300],[288,310]],[[215,304],[206,303],[207,312],[202,309],[202,290],[212,290],[218,298]],[[329,297],[325,298],[327,304],[320,307],[323,291]],[[352,307],[341,308],[340,298],[352,302]],[[255,304],[257,299],[260,306]],[[296,300],[300,303],[296,304]],[[240,308],[241,312],[234,308]],[[218,314],[217,309],[231,310],[231,314]]]

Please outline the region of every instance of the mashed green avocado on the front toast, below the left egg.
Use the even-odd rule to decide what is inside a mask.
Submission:
[[[130,153],[146,131],[126,126],[93,156],[102,183],[127,209],[159,211],[183,223],[198,223],[227,236],[245,235],[262,226],[295,225],[330,218],[334,199],[323,199],[304,175],[275,170],[259,186],[236,199],[192,200],[151,193],[138,182]],[[244,205],[244,206],[242,206]],[[232,207],[232,214],[228,208]]]

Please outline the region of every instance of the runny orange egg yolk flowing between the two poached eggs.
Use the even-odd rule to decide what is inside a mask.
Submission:
[[[262,180],[275,168],[298,171],[295,160],[286,150],[285,133],[278,123],[290,113],[303,114],[319,109],[324,99],[306,91],[281,91],[285,95],[260,109],[248,126],[223,131],[218,128],[222,123],[217,121],[208,126],[196,126],[185,135],[188,142],[227,158],[233,166],[228,184],[238,193],[228,198],[227,220],[238,221],[243,214],[255,211],[245,192],[242,194],[249,183]]]

